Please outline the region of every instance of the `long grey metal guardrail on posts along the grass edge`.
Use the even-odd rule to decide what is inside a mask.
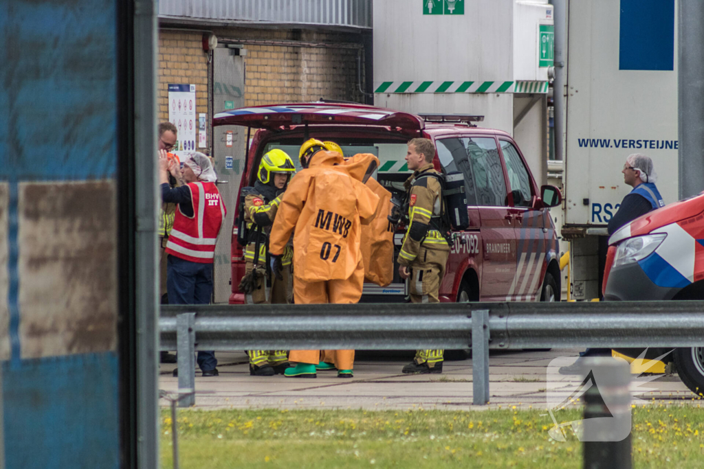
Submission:
[[[489,349],[697,347],[704,302],[164,306],[159,329],[161,349],[180,352],[184,394],[194,390],[197,349],[472,347],[473,401],[486,404]]]

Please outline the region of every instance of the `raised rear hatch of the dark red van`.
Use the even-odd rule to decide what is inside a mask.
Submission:
[[[366,105],[308,103],[253,106],[226,110],[213,117],[213,126],[241,125],[256,129],[279,129],[298,125],[367,125],[418,132],[421,117]]]

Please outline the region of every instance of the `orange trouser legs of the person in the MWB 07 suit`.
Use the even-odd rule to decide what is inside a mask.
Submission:
[[[296,278],[294,272],[294,302],[296,304],[348,304],[362,297],[364,265],[360,260],[357,268],[346,280],[306,282]],[[339,370],[351,370],[354,366],[354,350],[325,350],[331,363]],[[318,364],[320,350],[291,350],[289,360],[298,363]]]

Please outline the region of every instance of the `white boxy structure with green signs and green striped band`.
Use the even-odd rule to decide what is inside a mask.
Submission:
[[[548,0],[383,0],[373,14],[375,105],[484,115],[547,184]]]

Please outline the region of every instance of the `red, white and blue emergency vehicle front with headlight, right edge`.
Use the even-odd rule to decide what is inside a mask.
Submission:
[[[604,300],[704,300],[704,193],[622,226],[609,238],[609,249]],[[617,352],[639,356],[643,349]],[[662,361],[674,362],[690,390],[704,392],[704,347],[650,348],[644,358],[664,354]]]

